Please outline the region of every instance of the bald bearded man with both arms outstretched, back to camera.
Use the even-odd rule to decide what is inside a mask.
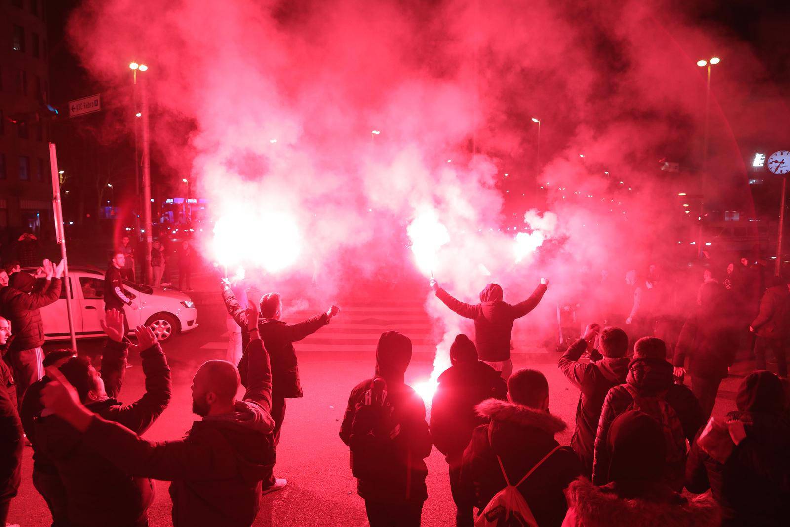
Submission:
[[[261,481],[276,486],[270,415],[269,354],[258,334],[258,306],[247,310],[250,363],[243,400],[235,398],[241,378],[224,360],[209,360],[192,379],[195,421],[185,439],[149,442],[107,422],[81,405],[57,370],[42,392],[43,404],[81,433],[83,444],[132,476],[171,480],[173,525],[247,527],[258,514]],[[50,372],[47,371],[47,376]]]

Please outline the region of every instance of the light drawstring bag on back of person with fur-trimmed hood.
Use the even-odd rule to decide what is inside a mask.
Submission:
[[[491,443],[491,431],[493,430],[494,421],[488,425],[488,443]],[[529,503],[518,491],[518,486],[527,480],[532,472],[544,464],[551,454],[554,454],[562,446],[557,445],[554,449],[546,454],[543,459],[538,461],[532,469],[525,474],[517,484],[510,484],[507,479],[505,467],[502,465],[502,458],[497,455],[496,459],[499,461],[499,469],[502,470],[502,477],[505,478],[505,488],[498,491],[487,506],[480,513],[480,516],[475,520],[475,527],[539,527],[532,514],[532,509],[529,508]]]

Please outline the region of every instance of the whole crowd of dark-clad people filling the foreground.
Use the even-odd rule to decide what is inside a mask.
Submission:
[[[11,269],[0,288],[0,525],[21,482],[26,441],[33,484],[55,527],[148,525],[152,479],[171,481],[176,527],[252,525],[261,496],[287,485],[276,477],[276,449],[287,399],[303,396],[294,343],[340,310],[288,324],[279,294],[246,299],[222,280],[229,327],[239,331],[231,332],[227,360],[206,361],[194,374],[192,411],[201,419],[179,439],[150,442],[141,434],[171,402],[171,368],[151,329],[138,326],[127,337],[125,264],[116,251],[99,371],[74,350],[43,356],[40,308],[58,299],[62,262],[44,261],[38,277]],[[634,292],[641,287],[633,275],[629,282]],[[480,303],[465,303],[431,279],[436,297],[472,319],[475,334],[453,341],[429,419],[405,382],[412,341],[382,333],[374,375],[352,388],[340,423],[370,525],[420,525],[425,459],[434,446],[446,458],[458,526],[786,525],[786,366],[780,362],[774,375],[758,356],[758,371],[739,386],[737,411],[710,417],[742,330],[728,311],[732,283],[729,290],[703,284],[673,341],[660,338],[658,326],[635,336],[630,325],[639,309],[624,328],[591,322],[558,363],[579,392],[568,446],[556,439],[568,425],[550,411],[546,376],[513,371],[510,357],[513,323],[540,303],[548,284],[541,279],[515,304],[487,284]],[[757,335],[755,352],[784,352],[787,281],[767,289],[748,328]],[[145,393],[124,405],[117,397],[132,353],[141,358]]]

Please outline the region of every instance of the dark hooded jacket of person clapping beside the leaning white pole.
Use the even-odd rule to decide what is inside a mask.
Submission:
[[[7,288],[0,289],[0,314],[9,319],[14,339],[9,352],[40,348],[44,325],[40,308],[55,303],[60,296],[60,278],[46,280],[41,291],[34,290],[36,279],[24,271],[13,273]]]

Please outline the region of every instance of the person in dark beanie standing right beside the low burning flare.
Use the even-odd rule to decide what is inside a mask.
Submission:
[[[461,489],[461,458],[472,431],[485,422],[475,406],[491,397],[505,399],[507,385],[499,372],[477,359],[475,343],[458,335],[450,346],[451,367],[439,375],[431,403],[431,439],[450,465],[450,491],[457,527],[472,525],[473,496]]]

